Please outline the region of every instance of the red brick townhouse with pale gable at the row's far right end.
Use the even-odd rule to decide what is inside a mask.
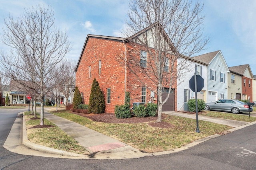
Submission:
[[[230,71],[242,75],[242,100],[252,102],[252,80],[253,74],[249,64],[229,67]]]

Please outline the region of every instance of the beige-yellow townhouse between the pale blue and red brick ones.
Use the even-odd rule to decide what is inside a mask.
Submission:
[[[228,73],[228,99],[241,99],[242,93],[242,76],[230,69]]]

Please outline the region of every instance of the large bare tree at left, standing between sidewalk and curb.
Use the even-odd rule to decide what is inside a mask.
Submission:
[[[24,80],[31,82],[28,88],[41,102],[40,125],[44,125],[46,87],[58,76],[49,73],[70,50],[66,32],[54,26],[53,16],[53,11],[44,6],[25,10],[16,20],[12,16],[5,18],[6,29],[2,35],[2,42],[11,47],[10,53],[2,53],[5,75],[20,84]]]

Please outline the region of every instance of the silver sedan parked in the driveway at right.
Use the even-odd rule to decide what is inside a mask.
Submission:
[[[205,110],[228,111],[232,113],[253,111],[252,106],[248,106],[239,100],[222,99],[212,103],[206,103]]]

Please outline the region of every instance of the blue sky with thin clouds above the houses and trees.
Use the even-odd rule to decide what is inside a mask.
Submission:
[[[221,50],[228,66],[250,64],[256,74],[256,0],[202,0],[204,33],[210,36],[198,55]],[[127,0],[0,0],[0,34],[4,16],[14,18],[37,4],[54,10],[55,25],[67,31],[72,44],[67,58],[78,61],[87,34],[120,37]],[[0,43],[0,49],[7,47]]]

